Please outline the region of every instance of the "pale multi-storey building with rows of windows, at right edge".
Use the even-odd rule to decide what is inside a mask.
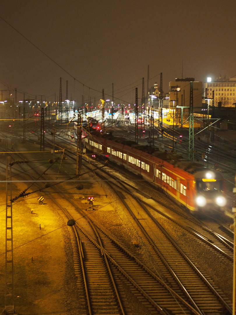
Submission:
[[[214,91],[214,106],[235,107],[233,103],[236,103],[236,78],[219,77],[211,81],[211,78],[208,79],[209,82],[204,83],[204,95],[207,89],[207,97],[211,99]],[[212,105],[212,100],[209,105]]]

